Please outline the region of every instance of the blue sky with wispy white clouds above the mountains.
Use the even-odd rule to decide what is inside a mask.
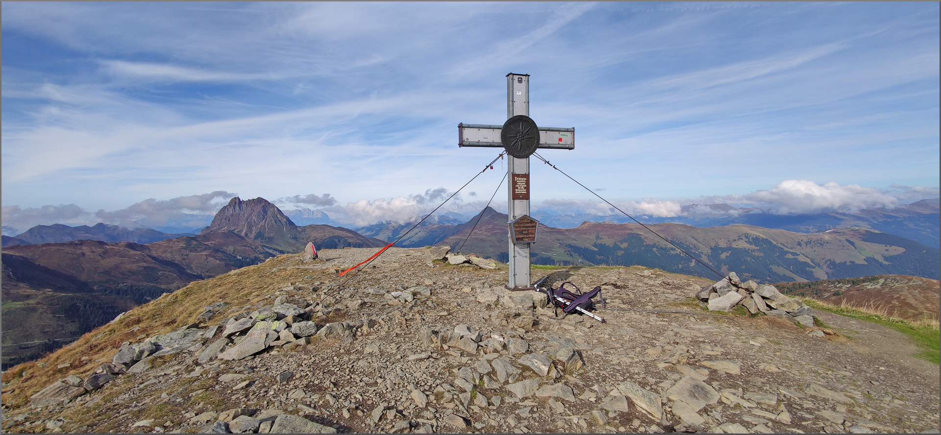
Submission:
[[[2,12],[4,225],[26,211],[33,223],[91,222],[147,198],[212,212],[231,194],[351,222],[416,214],[437,205],[429,190],[455,190],[497,155],[457,148],[455,130],[505,120],[508,72],[532,75],[537,124],[576,129],[576,149],[541,153],[631,210],[937,197],[936,2]],[[497,169],[455,210],[479,210]],[[546,165],[532,177],[536,207],[592,207]]]

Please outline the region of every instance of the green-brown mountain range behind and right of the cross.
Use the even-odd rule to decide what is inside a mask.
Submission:
[[[506,262],[506,222],[505,214],[487,208],[466,224],[420,225],[399,244],[403,247],[445,244],[465,254],[475,253]],[[473,225],[476,227],[470,234]],[[754,225],[647,226],[716,271],[734,271],[761,282],[813,281],[883,273],[938,277],[938,249],[867,228],[805,234]],[[374,226],[366,234],[392,241],[407,227]],[[531,256],[533,264],[643,265],[698,276],[711,274],[637,224],[584,222],[572,228],[539,225]]]

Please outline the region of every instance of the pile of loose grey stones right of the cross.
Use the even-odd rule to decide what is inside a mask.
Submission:
[[[710,311],[731,311],[742,305],[751,314],[763,313],[774,318],[784,318],[804,327],[814,326],[810,307],[800,300],[789,298],[777,291],[772,285],[758,284],[755,281],[739,279],[735,272],[714,284],[696,292],[703,307]]]

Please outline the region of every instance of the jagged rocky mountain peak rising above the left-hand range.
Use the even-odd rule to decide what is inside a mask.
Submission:
[[[267,199],[258,197],[243,201],[238,196],[215,213],[213,223],[202,230],[202,234],[231,231],[246,239],[279,232],[293,233],[297,225]]]

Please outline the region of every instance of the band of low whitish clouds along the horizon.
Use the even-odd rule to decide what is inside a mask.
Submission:
[[[282,205],[308,205],[322,208],[331,219],[354,227],[385,222],[406,224],[421,219],[448,198],[452,193],[439,187],[427,189],[423,194],[410,194],[395,198],[374,200],[360,199],[341,206],[330,194],[307,194],[283,197],[275,200]],[[75,204],[43,206],[37,209],[21,209],[19,206],[3,208],[3,233],[15,236],[35,225],[94,225],[105,224],[135,227],[143,225],[184,225],[197,217],[212,215],[225,201],[235,196],[226,191],[209,194],[179,196],[167,200],[147,199],[126,209],[90,212]],[[473,195],[476,197],[476,195]],[[893,184],[886,189],[872,189],[855,184],[840,185],[836,181],[817,184],[806,179],[781,181],[772,189],[758,190],[751,194],[704,196],[695,200],[614,201],[614,205],[637,217],[670,218],[678,216],[734,216],[742,210],[754,209],[774,214],[797,214],[819,212],[856,212],[863,209],[893,209],[921,199],[938,197],[937,187],[902,186]],[[457,194],[438,212],[456,211],[473,215],[484,208],[487,201],[465,202]],[[716,206],[719,204],[720,206]],[[727,206],[722,206],[727,204]],[[505,201],[495,199],[490,204],[495,210],[506,210]],[[534,204],[534,210],[547,210],[554,214],[591,214],[610,216],[620,214],[603,202],[585,199],[548,199]],[[195,226],[195,225],[194,225]]]

